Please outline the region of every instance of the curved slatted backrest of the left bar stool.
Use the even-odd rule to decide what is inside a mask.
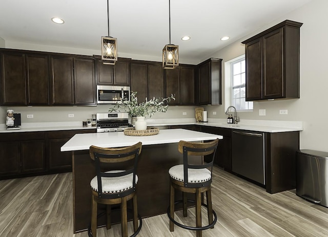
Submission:
[[[141,142],[138,142],[132,146],[118,148],[102,148],[97,146],[90,146],[90,158],[95,161],[95,169],[98,182],[98,198],[120,198],[128,196],[135,191],[137,163],[138,156],[141,153],[141,147]],[[103,192],[102,178],[122,177],[129,174],[133,174],[133,188],[114,193]]]

